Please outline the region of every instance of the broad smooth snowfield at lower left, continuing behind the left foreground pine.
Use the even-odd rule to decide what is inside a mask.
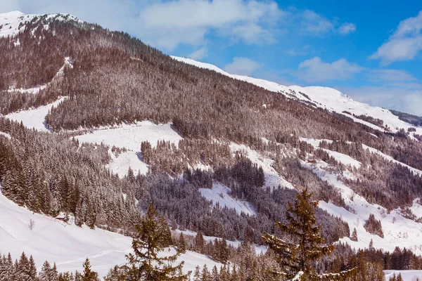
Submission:
[[[30,230],[28,224],[34,221]],[[92,269],[100,277],[107,274],[113,266],[126,263],[125,255],[132,250],[132,238],[86,226],[79,228],[56,221],[51,217],[33,214],[32,211],[19,207],[0,192],[0,251],[10,252],[13,259],[18,259],[22,251],[34,256],[37,268],[48,260],[56,262],[59,271],[82,271],[84,259],[89,258]],[[170,249],[174,253],[174,249]],[[162,253],[165,254],[165,253]],[[193,251],[186,251],[178,261],[185,261],[184,271],[195,270],[207,264],[208,268],[221,266],[207,256]]]

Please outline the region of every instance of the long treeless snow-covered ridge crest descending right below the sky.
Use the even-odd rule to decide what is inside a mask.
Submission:
[[[409,129],[413,127],[413,125],[403,122],[399,119],[399,117],[393,115],[390,110],[386,110],[382,107],[374,107],[371,105],[367,105],[366,103],[359,103],[356,100],[352,100],[349,96],[345,95],[345,93],[341,93],[338,90],[327,88],[327,87],[320,87],[320,86],[283,86],[277,84],[275,82],[266,81],[263,79],[257,79],[248,76],[236,75],[236,74],[229,74],[224,70],[219,69],[215,65],[210,65],[209,63],[200,63],[196,60],[191,60],[190,58],[180,58],[177,56],[172,56],[174,60],[179,60],[183,63],[187,63],[189,65],[195,65],[197,67],[206,68],[209,70],[214,70],[215,72],[219,72],[226,76],[229,76],[234,79],[238,79],[241,81],[246,81],[250,84],[255,84],[260,86],[268,91],[274,91],[277,93],[282,93],[287,98],[294,98],[296,100],[301,100],[306,103],[314,103],[316,107],[325,108],[332,112],[337,112],[339,114],[345,115],[350,117],[354,120],[354,122],[359,122],[365,124],[366,126],[370,126],[373,129],[377,129],[380,131],[385,131],[384,128],[366,122],[362,119],[358,119],[356,117],[352,117],[345,113],[345,111],[350,112],[354,115],[367,115],[373,117],[375,119],[381,119],[384,122],[384,125],[390,128],[390,131],[395,132],[398,129]],[[416,133],[422,134],[422,128],[417,128]]]

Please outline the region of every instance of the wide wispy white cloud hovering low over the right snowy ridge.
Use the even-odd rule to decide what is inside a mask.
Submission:
[[[349,63],[345,58],[333,63],[324,63],[321,58],[315,57],[300,63],[295,76],[307,82],[345,80],[363,70],[363,67]]]

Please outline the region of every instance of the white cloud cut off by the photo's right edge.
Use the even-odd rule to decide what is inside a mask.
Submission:
[[[385,65],[401,60],[412,60],[422,50],[422,11],[414,18],[399,23],[394,34],[369,58]]]

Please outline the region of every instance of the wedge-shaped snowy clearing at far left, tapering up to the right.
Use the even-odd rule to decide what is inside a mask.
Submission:
[[[30,129],[36,129],[38,131],[49,131],[46,127],[46,115],[49,113],[52,107],[57,107],[66,97],[59,98],[54,103],[48,105],[42,105],[37,108],[30,110],[21,110],[6,115],[5,117],[16,122],[22,122],[23,125]]]

